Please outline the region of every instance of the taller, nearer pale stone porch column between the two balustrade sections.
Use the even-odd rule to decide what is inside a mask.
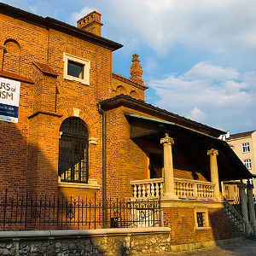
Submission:
[[[174,143],[172,137],[166,133],[166,137],[160,140],[164,145],[164,169],[165,169],[165,192],[166,198],[177,198],[174,192],[174,176],[172,163],[172,144]]]

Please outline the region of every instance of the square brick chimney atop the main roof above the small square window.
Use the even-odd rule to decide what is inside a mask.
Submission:
[[[77,26],[80,29],[83,29],[87,32],[96,34],[97,36],[102,36],[102,22],[101,22],[101,14],[93,11],[90,14],[84,16],[77,21]]]

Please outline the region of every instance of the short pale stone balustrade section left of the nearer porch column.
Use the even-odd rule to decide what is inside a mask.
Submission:
[[[163,190],[164,178],[150,178],[135,180],[131,182],[133,187],[133,197],[135,198],[151,198],[159,197],[164,193]]]

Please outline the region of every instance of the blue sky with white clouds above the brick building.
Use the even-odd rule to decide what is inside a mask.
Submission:
[[[6,0],[76,26],[102,14],[113,72],[140,55],[146,102],[222,131],[256,130],[255,0]]]

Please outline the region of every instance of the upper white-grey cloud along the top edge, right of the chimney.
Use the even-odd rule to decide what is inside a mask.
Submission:
[[[160,55],[174,44],[217,55],[256,48],[252,0],[109,0],[101,6],[115,33],[137,36]]]

